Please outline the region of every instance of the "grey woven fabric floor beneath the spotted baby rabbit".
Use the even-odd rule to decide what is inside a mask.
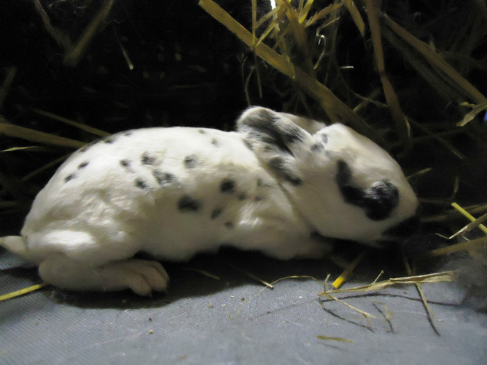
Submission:
[[[228,265],[230,263],[230,266]],[[264,289],[231,266],[272,281],[323,280],[329,261],[281,262],[230,252],[168,266],[168,295],[70,293],[46,288],[0,302],[1,364],[481,364],[487,316],[460,305],[455,284],[424,285],[433,332],[414,286],[342,295],[377,318],[367,323],[339,302],[317,299],[322,284],[287,279]],[[0,252],[1,293],[38,282]],[[189,268],[221,277],[211,279]],[[370,270],[374,271],[374,270]],[[371,273],[372,274],[372,273]],[[353,285],[376,275],[360,275]],[[351,285],[351,284],[349,284]],[[387,311],[392,317],[386,320]],[[353,343],[318,339],[342,337]]]

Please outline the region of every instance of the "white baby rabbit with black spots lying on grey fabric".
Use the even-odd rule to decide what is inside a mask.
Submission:
[[[223,245],[319,258],[333,239],[407,236],[417,197],[398,163],[343,124],[250,107],[236,131],[154,127],[74,152],[0,245],[73,291],[166,291],[156,260]],[[138,252],[154,259],[136,259]]]

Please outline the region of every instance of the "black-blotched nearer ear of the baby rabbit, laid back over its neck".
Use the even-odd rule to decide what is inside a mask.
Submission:
[[[309,152],[312,137],[284,113],[268,108],[247,109],[237,120],[237,131],[244,143],[279,177],[293,185],[303,183],[299,176],[300,161]]]

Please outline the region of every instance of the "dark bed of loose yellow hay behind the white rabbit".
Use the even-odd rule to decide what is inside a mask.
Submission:
[[[484,1],[2,6],[2,235],[18,233],[35,193],[72,149],[136,127],[231,129],[247,104],[261,104],[345,122],[376,140],[422,201],[422,262],[451,254],[424,248],[461,243],[459,256],[486,270]],[[481,220],[459,231],[468,220],[454,202]]]

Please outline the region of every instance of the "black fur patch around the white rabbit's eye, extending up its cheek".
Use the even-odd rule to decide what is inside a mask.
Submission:
[[[343,160],[338,161],[337,164],[335,181],[345,202],[364,209],[371,220],[388,218],[392,209],[399,203],[399,191],[396,186],[389,181],[378,181],[368,189],[354,186],[351,182],[349,165]]]

